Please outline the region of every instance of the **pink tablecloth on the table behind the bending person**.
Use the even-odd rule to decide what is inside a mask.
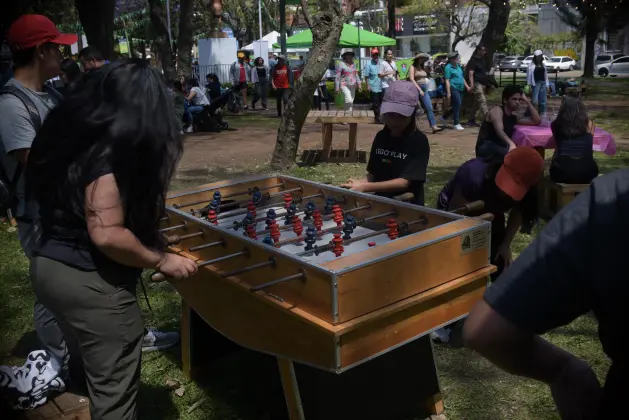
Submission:
[[[512,140],[517,146],[542,147],[544,149],[555,148],[555,139],[550,126],[516,125],[513,130]],[[616,154],[616,142],[611,134],[602,128],[596,127],[592,150],[604,152],[606,155],[614,155]]]

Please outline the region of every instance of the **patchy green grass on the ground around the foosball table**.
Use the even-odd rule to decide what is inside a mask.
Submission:
[[[610,124],[622,121],[621,115],[607,115]],[[233,120],[233,119],[232,119]],[[428,169],[426,197],[428,205],[434,203],[438,191],[452,176],[463,157],[456,150],[431,145],[433,154]],[[615,156],[596,153],[602,173],[627,167],[629,152],[619,151]],[[251,168],[234,175],[246,175],[267,171],[266,167]],[[290,175],[338,184],[347,178],[360,177],[365,173],[364,164],[322,164],[297,167]],[[213,172],[207,182],[225,179],[226,173]],[[174,188],[187,186],[178,180]],[[17,235],[0,225],[0,354],[2,364],[22,364],[25,353],[16,351],[23,347],[26,337],[32,337],[33,293],[27,276],[26,259],[23,257]],[[532,240],[532,236],[518,234],[514,242],[514,254],[518,255]],[[147,325],[164,330],[176,330],[179,326],[180,300],[167,283],[148,285],[153,307],[151,313],[143,299],[139,299]],[[141,296],[141,293],[139,293]],[[584,316],[567,327],[559,328],[547,338],[587,360],[601,380],[609,367],[602,352],[597,325],[592,316]],[[449,420],[489,419],[557,419],[554,405],[546,386],[508,375],[467,349],[435,347],[435,357]],[[265,377],[260,373],[258,360],[253,355],[234,356],[211,366],[205,386],[188,381],[181,372],[179,349],[149,353],[143,356],[142,388],[139,405],[142,417],[165,420],[229,420],[257,419],[257,411],[264,407],[252,406],[252,395],[264,388]],[[244,378],[244,379],[243,379]],[[178,397],[165,385],[167,379],[179,381],[185,388]],[[202,400],[198,407],[189,408]],[[0,413],[2,414],[2,413]],[[4,418],[4,417],[3,417]]]

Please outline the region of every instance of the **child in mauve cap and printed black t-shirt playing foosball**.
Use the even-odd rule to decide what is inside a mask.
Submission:
[[[430,146],[415,124],[417,89],[408,81],[391,82],[380,111],[385,126],[371,145],[367,176],[341,187],[389,198],[410,192],[411,202],[423,206]]]

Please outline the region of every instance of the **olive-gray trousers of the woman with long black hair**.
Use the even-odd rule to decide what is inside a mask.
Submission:
[[[144,325],[136,281],[44,257],[33,258],[31,280],[39,301],[78,344],[91,419],[137,419]]]

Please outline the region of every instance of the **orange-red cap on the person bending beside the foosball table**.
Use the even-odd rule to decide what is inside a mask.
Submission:
[[[496,185],[509,197],[520,201],[539,182],[543,173],[544,159],[537,150],[518,147],[505,156],[496,174]]]

